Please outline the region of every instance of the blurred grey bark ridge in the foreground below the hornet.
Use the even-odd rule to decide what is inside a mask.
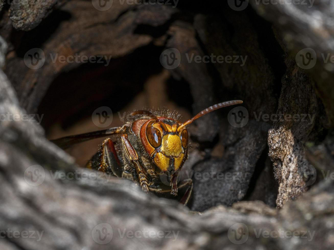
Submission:
[[[22,112],[2,72],[0,84],[1,108]],[[332,180],[322,182],[298,201],[287,203],[281,211],[259,201],[249,201],[196,214],[176,202],[145,194],[127,180],[84,180],[82,169],[78,169],[82,179],[52,179],[49,170],[56,171],[62,166],[62,171],[68,173],[75,167],[68,156],[43,137],[40,128],[29,122],[11,122],[2,123],[1,132],[0,230],[43,231],[40,241],[7,237],[0,242],[1,249],[221,249],[222,246],[237,249],[229,228],[238,223],[243,223],[247,232],[242,249],[316,249],[319,245],[322,249],[332,249]],[[25,137],[27,134],[33,136]],[[39,186],[24,181],[24,172],[33,163],[45,169],[44,182]],[[112,225],[110,244],[101,245],[93,240],[92,231],[100,223]],[[175,241],[174,238],[129,240],[119,234],[124,229],[171,230],[178,236]],[[297,240],[281,237],[269,240],[261,230],[302,233],[308,230],[312,238],[308,235]]]

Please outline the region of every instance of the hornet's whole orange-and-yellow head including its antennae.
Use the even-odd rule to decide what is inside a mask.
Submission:
[[[183,123],[169,117],[157,117],[151,114],[152,119],[147,120],[140,128],[140,138],[144,149],[158,170],[172,175],[182,167],[187,159],[188,131],[185,126],[211,111],[239,103],[242,101],[235,100],[215,104]],[[137,111],[133,114],[140,112]]]

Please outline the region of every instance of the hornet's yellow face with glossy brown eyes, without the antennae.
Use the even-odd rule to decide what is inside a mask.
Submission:
[[[175,173],[186,160],[188,132],[186,128],[177,131],[179,123],[170,118],[159,117],[149,121],[142,142],[155,165],[164,173]]]

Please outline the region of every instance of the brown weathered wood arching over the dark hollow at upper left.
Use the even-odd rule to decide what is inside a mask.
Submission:
[[[77,54],[117,58],[152,42],[153,37],[136,34],[135,29],[140,24],[148,22],[147,19],[154,20],[154,25],[161,25],[175,10],[160,5],[148,7],[145,9],[137,5],[121,5],[115,1],[112,11],[98,11],[92,7],[90,1],[70,1],[61,8],[61,11],[53,13],[50,18],[55,18],[58,14],[57,18],[63,21],[42,46],[38,47],[38,40],[28,41],[29,36],[21,40],[23,46],[27,42],[31,48],[38,47],[43,50],[45,55],[43,67],[37,70],[29,69],[24,64],[23,55],[11,55],[8,58],[7,74],[12,77],[11,81],[18,92],[21,105],[28,112],[36,112],[52,80],[63,71],[80,66],[80,63],[58,61],[52,63],[52,58],[55,56]],[[158,13],[161,15],[156,18]],[[95,18],[89,18],[92,16]],[[33,35],[43,39],[42,31],[38,28],[35,31]],[[110,39],[111,37],[114,39]],[[23,70],[20,75],[14,71],[17,67]]]

